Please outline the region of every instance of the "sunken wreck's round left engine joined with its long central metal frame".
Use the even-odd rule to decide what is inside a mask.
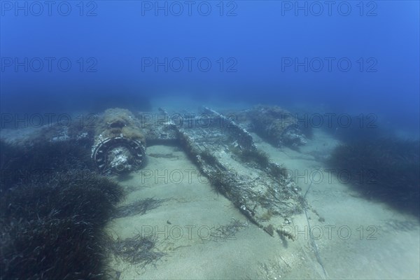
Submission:
[[[292,123],[287,120],[283,127]],[[290,223],[294,214],[302,213],[306,202],[286,169],[259,151],[242,125],[246,123],[241,121],[239,125],[209,108],[198,114],[178,111],[169,115],[160,109],[156,115],[136,116],[124,109],[109,109],[90,129],[66,127],[69,133],[65,141],[80,141],[80,135],[92,140],[92,159],[103,174],[144,167],[146,143],[179,144],[213,186],[250,221],[269,235],[283,232],[281,226]],[[57,141],[54,137],[58,129],[48,127],[38,138],[47,135],[50,141]]]

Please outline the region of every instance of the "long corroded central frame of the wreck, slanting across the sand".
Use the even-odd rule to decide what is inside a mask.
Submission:
[[[211,120],[205,127],[196,118],[173,129],[211,183],[260,228],[278,230],[302,213],[304,198],[286,169],[258,151],[251,134],[234,120],[208,108],[204,113]]]

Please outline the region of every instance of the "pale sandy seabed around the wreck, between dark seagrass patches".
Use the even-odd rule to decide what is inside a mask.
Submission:
[[[271,160],[290,170],[302,192],[311,185],[312,238],[304,214],[290,221],[295,241],[271,237],[218,194],[184,151],[150,146],[141,172],[117,178],[130,189],[121,205],[147,197],[165,202],[146,214],[115,218],[106,230],[120,239],[154,235],[165,255],[146,267],[110,258],[119,279],[419,279],[418,220],[365,199],[337,177],[339,171],[325,167],[323,158],[336,140],[314,130],[297,152],[253,137]],[[232,221],[246,226],[235,235],[213,236]]]

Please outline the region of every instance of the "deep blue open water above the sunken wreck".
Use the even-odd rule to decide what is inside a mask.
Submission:
[[[419,14],[419,1],[1,1],[0,108],[138,111],[175,94],[373,113],[418,137]]]

